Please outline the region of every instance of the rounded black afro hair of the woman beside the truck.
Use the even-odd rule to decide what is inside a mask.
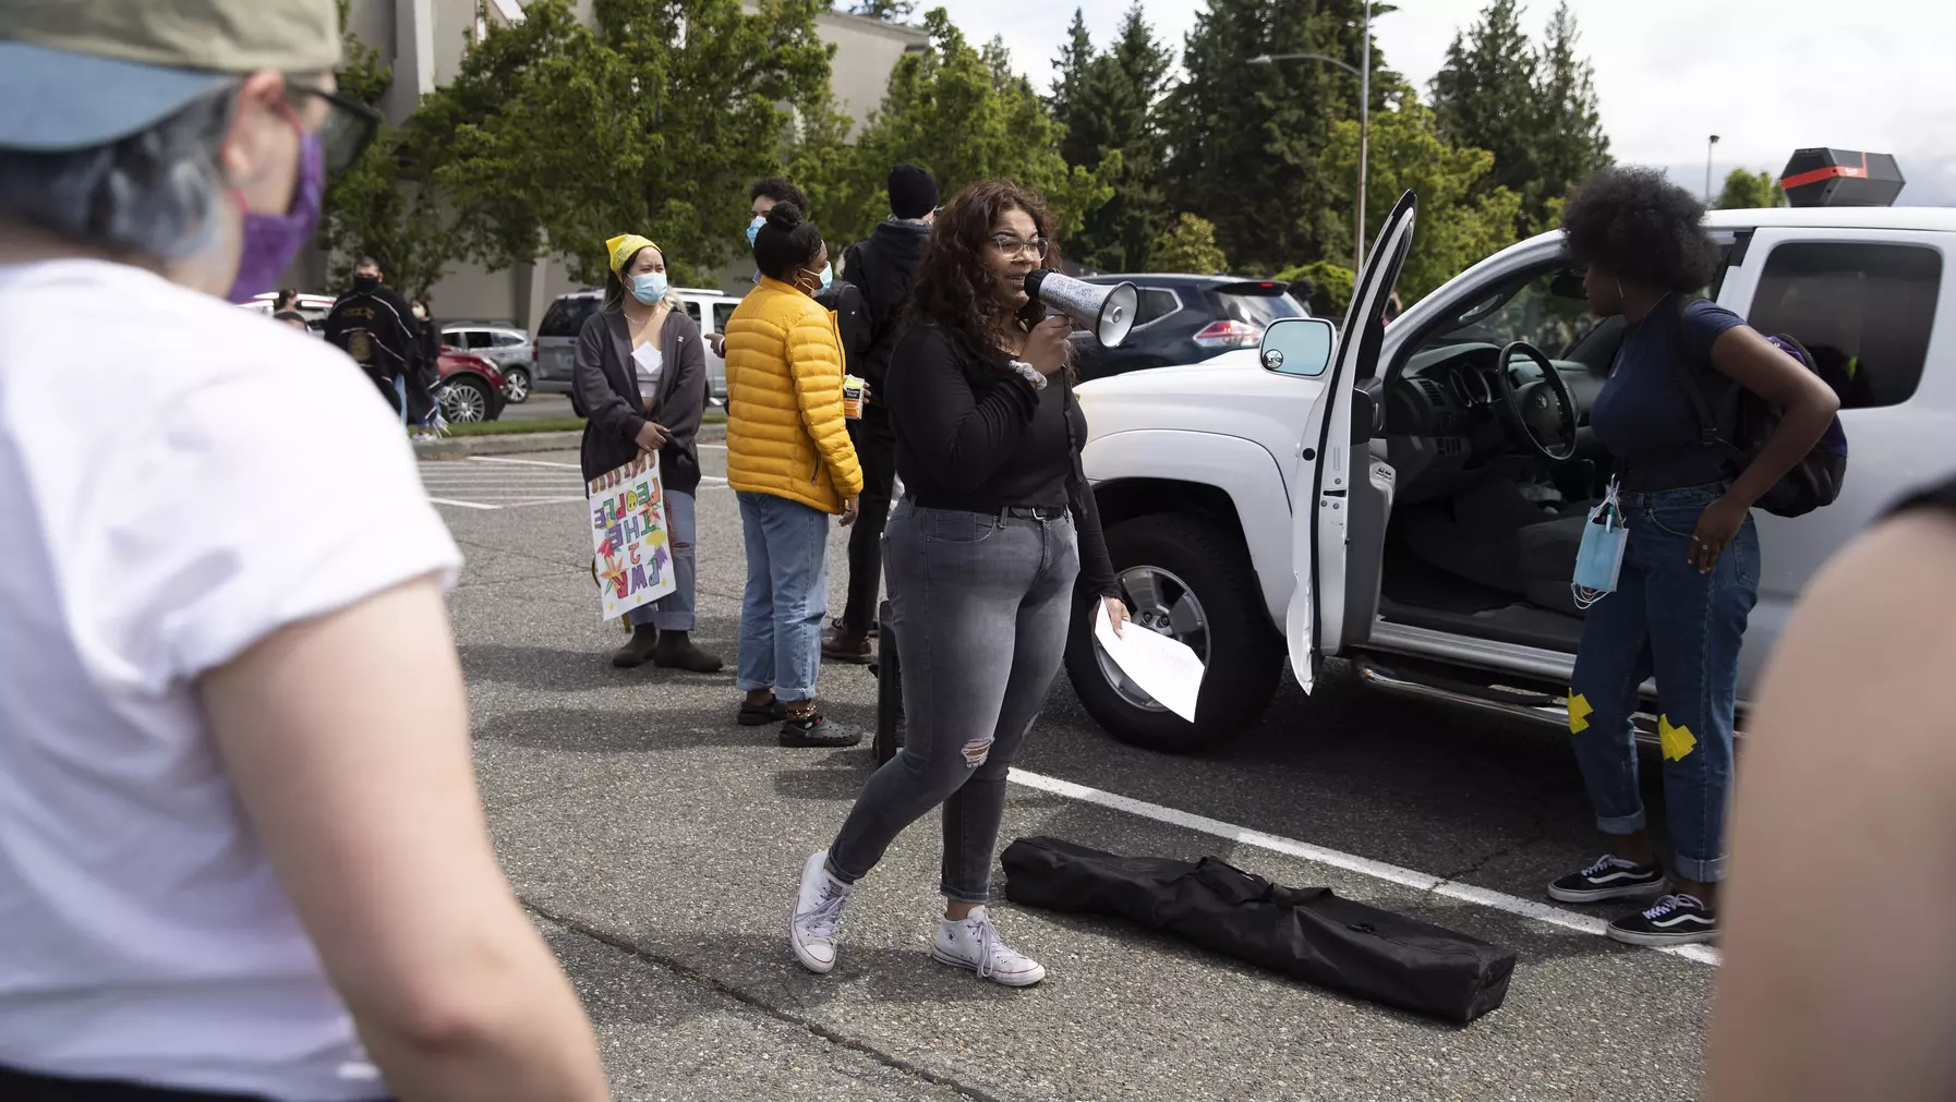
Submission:
[[[1704,203],[1655,168],[1604,168],[1563,205],[1577,264],[1659,291],[1696,291],[1717,272]]]

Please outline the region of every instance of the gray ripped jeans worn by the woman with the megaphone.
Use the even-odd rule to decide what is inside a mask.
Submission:
[[[890,625],[910,731],[857,797],[829,864],[857,881],[939,803],[943,893],[984,903],[1005,815],[1005,770],[1060,672],[1080,572],[1066,512],[1050,520],[917,508],[884,531]]]

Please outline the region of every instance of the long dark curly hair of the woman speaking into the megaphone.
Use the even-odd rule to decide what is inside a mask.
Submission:
[[[931,242],[923,246],[917,281],[910,289],[910,324],[955,332],[974,350],[998,348],[1009,320],[1027,328],[1039,324],[1045,309],[1037,299],[1019,309],[1015,318],[1001,318],[992,311],[998,293],[984,266],[984,252],[992,248],[992,227],[1007,211],[1025,211],[1039,236],[1052,240],[1052,213],[1039,195],[1011,180],[968,184],[931,225]],[[1050,246],[1045,264],[1058,268],[1058,244]]]

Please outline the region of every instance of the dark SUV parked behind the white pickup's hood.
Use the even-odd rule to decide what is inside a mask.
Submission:
[[[1082,379],[1101,379],[1197,363],[1232,348],[1256,348],[1264,326],[1277,318],[1309,317],[1291,297],[1289,283],[1236,279],[1234,276],[1088,276],[1088,283],[1133,283],[1140,291],[1134,330],[1121,348],[1101,348],[1086,330],[1074,330]]]

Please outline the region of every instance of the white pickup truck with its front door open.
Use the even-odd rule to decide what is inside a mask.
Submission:
[[[1588,406],[1623,322],[1588,315],[1549,233],[1385,324],[1414,211],[1408,193],[1385,223],[1342,338],[1289,318],[1260,350],[1080,387],[1086,473],[1134,619],[1207,664],[1187,723],[1076,625],[1068,672],[1115,737],[1160,750],[1228,737],[1267,707],[1285,653],[1307,692],[1338,655],[1375,686],[1565,723],[1582,633],[1569,576],[1606,469]],[[1743,707],[1819,565],[1956,469],[1956,211],[1713,211],[1708,229],[1725,260],[1706,293],[1850,377],[1841,498],[1798,520],[1756,514]],[[1573,442],[1555,440],[1565,401]]]

